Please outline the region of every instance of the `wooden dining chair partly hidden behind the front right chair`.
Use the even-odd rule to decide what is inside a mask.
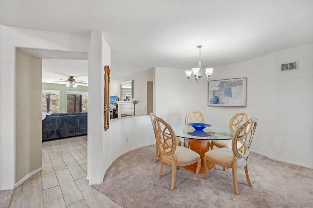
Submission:
[[[235,132],[237,131],[237,129],[243,124],[245,123],[247,120],[249,120],[249,115],[248,113],[237,113],[236,115],[234,115],[229,122],[229,130],[231,132],[232,135],[235,134]],[[215,140],[212,141],[210,144],[211,150],[215,147],[228,147],[231,148],[231,140]]]

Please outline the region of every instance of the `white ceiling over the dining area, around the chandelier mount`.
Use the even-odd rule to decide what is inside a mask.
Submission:
[[[102,30],[114,78],[158,67],[210,67],[313,43],[313,1],[0,0],[0,22]],[[213,55],[212,53],[215,52]]]

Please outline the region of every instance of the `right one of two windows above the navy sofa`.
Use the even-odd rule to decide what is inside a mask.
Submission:
[[[85,92],[67,91],[67,113],[88,111],[88,94]]]

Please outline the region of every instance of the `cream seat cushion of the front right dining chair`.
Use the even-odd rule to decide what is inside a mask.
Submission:
[[[211,160],[216,161],[216,162],[231,165],[232,159],[233,159],[233,151],[232,151],[232,149],[230,149],[228,147],[214,148],[213,150],[206,152],[205,156],[207,156],[208,160],[211,159]],[[246,160],[236,158],[236,164],[237,164],[237,168],[245,167],[246,166]]]

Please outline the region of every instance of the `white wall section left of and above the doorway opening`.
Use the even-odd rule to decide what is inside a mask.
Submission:
[[[15,48],[88,52],[90,35],[0,26],[0,189],[15,183]]]

